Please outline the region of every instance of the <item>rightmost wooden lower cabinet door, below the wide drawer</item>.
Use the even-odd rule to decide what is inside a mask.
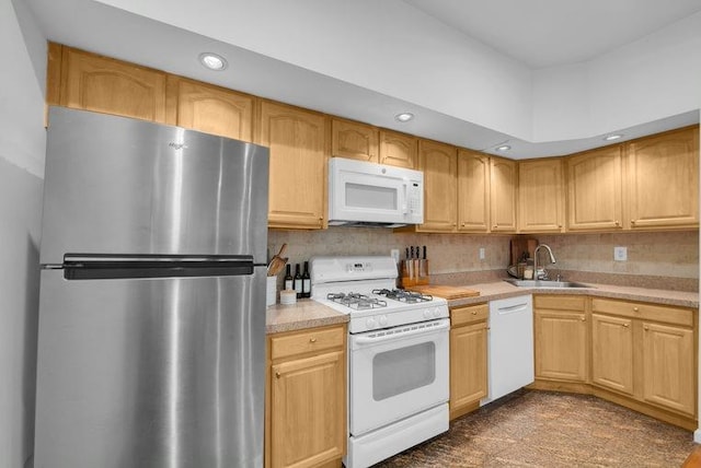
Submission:
[[[693,416],[693,331],[643,323],[643,361],[645,400]]]

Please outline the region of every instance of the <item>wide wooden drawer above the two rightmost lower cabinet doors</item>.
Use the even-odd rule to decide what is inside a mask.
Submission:
[[[693,326],[693,311],[690,308],[674,307],[669,305],[594,297],[591,300],[591,312],[642,318],[645,320],[664,321],[685,327]]]

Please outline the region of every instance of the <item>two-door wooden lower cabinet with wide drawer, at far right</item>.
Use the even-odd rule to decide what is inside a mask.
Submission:
[[[610,299],[591,299],[591,384],[607,399],[622,398],[697,418],[697,312]],[[630,406],[630,405],[625,405]],[[639,408],[634,408],[639,409]],[[644,409],[640,409],[643,412]],[[673,416],[674,419],[674,416]]]

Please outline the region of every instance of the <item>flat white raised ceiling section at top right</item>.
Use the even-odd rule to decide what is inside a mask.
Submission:
[[[403,0],[530,68],[591,60],[701,11],[701,0]]]

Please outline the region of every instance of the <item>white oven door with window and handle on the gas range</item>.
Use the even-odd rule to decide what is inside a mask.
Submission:
[[[350,435],[448,401],[449,329],[444,318],[350,336]]]

